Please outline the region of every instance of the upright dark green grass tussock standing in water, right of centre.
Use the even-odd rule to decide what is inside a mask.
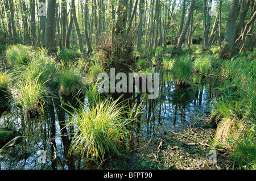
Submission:
[[[176,86],[190,86],[189,78],[192,74],[191,56],[180,56],[176,58],[174,65],[174,83]]]

